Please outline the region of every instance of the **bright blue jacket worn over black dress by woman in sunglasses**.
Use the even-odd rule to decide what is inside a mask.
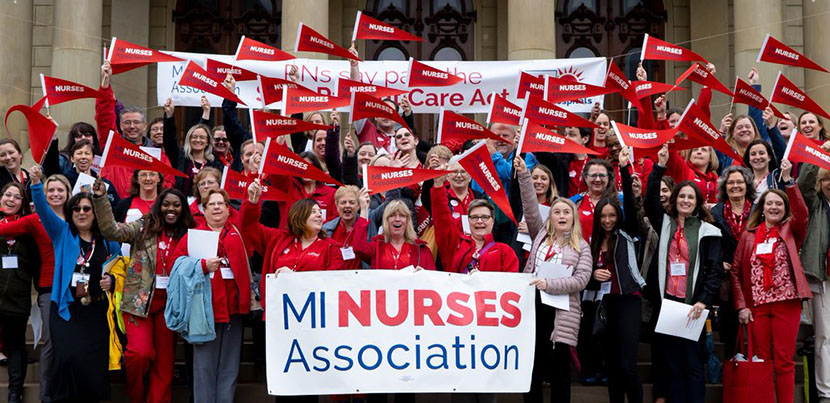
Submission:
[[[69,320],[69,304],[75,301],[75,296],[69,291],[69,284],[72,282],[72,273],[75,272],[78,256],[81,255],[80,239],[69,229],[69,224],[52,211],[43,193],[43,183],[32,185],[31,190],[35,211],[46,233],[49,234],[49,238],[52,239],[52,247],[55,249],[52,302],[58,305],[58,315],[64,320]],[[120,254],[121,247],[118,246],[118,242],[107,241],[106,247],[108,254]]]

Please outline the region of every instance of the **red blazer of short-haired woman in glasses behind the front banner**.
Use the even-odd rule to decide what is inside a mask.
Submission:
[[[430,196],[432,197],[432,215],[435,222],[451,222],[449,199],[447,190],[442,187],[433,187]],[[438,254],[444,271],[463,273],[464,269],[473,260],[475,252],[475,241],[468,235],[464,235],[455,225],[448,225],[448,229],[435,231],[435,240],[438,244]],[[484,244],[493,241],[493,234],[488,234]],[[496,242],[479,259],[479,270],[481,271],[506,271],[517,273],[519,271],[519,259],[516,252],[504,243]]]

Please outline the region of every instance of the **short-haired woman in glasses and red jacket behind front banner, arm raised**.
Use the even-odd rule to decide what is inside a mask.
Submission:
[[[450,222],[450,204],[444,188],[446,176],[435,179],[430,191],[435,222]],[[464,235],[455,225],[435,231],[438,251],[445,271],[472,273],[474,271],[518,272],[519,259],[510,245],[493,240],[495,209],[487,200],[473,200],[467,210],[470,235]],[[385,232],[385,230],[384,230]]]

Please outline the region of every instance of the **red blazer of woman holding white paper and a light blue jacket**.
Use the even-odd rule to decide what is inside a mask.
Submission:
[[[207,224],[196,227],[200,230],[210,230]],[[229,219],[222,229],[219,238],[220,250],[224,248],[225,255],[233,272],[233,285],[222,279],[219,270],[210,279],[211,299],[213,303],[213,320],[216,323],[228,323],[233,314],[247,314],[251,311],[251,276],[248,272],[248,255],[243,247],[241,229],[234,226]],[[187,234],[176,246],[173,260],[179,256],[187,256]],[[208,273],[205,261],[202,260],[202,269]],[[232,304],[236,301],[235,304]]]

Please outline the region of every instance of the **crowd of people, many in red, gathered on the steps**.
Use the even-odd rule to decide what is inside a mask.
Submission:
[[[353,79],[359,79],[358,68],[352,62]],[[545,305],[536,294],[527,402],[543,401],[545,382],[551,401],[570,401],[575,367],[585,384],[607,385],[611,402],[642,402],[641,340],[652,347],[655,401],[703,402],[702,340],[653,332],[664,300],[690,305],[694,319],[713,312],[724,360],[735,354],[743,326],[751,327],[758,357],[774,365],[778,401],[791,402],[802,304],[812,299],[816,384],[830,399],[830,321],[823,318],[830,310],[830,171],[782,159],[796,132],[830,150],[815,114],[777,119],[770,109],[750,107],[748,115],[724,116],[720,130],[743,161],[709,146],[677,150],[669,144],[632,158],[598,106],[590,116],[598,128],[556,128],[597,156],[517,154],[518,128],[492,124],[489,129],[507,141],[481,141],[520,218],[516,225],[458,163],[456,156],[475,142],[460,149],[429,144],[409,129],[415,125],[405,97],[400,104],[386,102],[409,128],[378,118],[357,121],[352,130],[341,126],[337,113],[321,111],[293,117],[332,129],[275,139],[344,184],[337,187],[258,174],[264,142],[254,141],[230,100],[222,103],[224,125],[214,126],[203,98],[200,121],[186,128],[179,145],[173,103],[166,102],[162,118],[147,122],[144,110],[116,101],[111,74],[105,63],[94,124],[74,124],[61,150],[62,134],[56,134],[42,167],[24,169],[20,146],[0,140],[0,327],[10,402],[22,401],[27,375],[32,286],[43,318],[42,401],[110,399],[109,368],[117,352],[108,295],[119,289],[123,316],[114,319],[125,329],[122,361],[130,399],[171,400],[181,336],[193,400],[230,402],[245,326],[254,328],[264,351],[266,274],[410,266],[469,275],[535,273],[547,262],[568,265],[573,273],[535,278],[529,286],[568,294],[570,309]],[[640,68],[637,78],[645,80],[645,74]],[[296,69],[289,78],[297,80]],[[748,79],[760,87],[756,70]],[[235,87],[230,75],[223,84]],[[698,102],[708,113],[711,91],[701,92]],[[682,113],[667,109],[663,97],[637,107],[643,128],[674,127]],[[111,130],[136,145],[160,148],[161,161],[185,177],[117,165],[97,172],[93,158]],[[363,186],[366,165],[451,173],[370,195]],[[220,188],[223,169],[250,179],[242,200]],[[76,192],[81,174],[97,180]],[[265,186],[295,200],[263,201]],[[438,230],[437,223],[445,226]],[[218,256],[190,257],[188,229],[218,232]],[[517,241],[520,234],[530,243]],[[117,275],[109,269],[122,250],[129,260]],[[171,325],[183,320],[175,312],[196,312],[204,320],[191,321],[182,332]]]

